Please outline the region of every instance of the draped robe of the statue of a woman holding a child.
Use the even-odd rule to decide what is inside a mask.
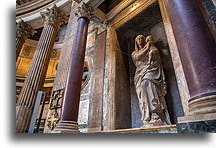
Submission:
[[[132,53],[136,65],[134,84],[139,98],[142,121],[150,121],[152,113],[157,113],[164,125],[170,124],[169,114],[165,102],[166,83],[162,69],[160,54],[156,48],[153,61],[148,63],[149,51],[137,60],[138,50]]]

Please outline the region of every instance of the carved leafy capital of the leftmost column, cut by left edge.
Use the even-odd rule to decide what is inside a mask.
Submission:
[[[23,20],[20,20],[16,24],[16,37],[27,38],[33,36],[35,32],[36,31]]]

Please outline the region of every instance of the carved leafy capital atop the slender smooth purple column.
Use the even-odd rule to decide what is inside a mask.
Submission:
[[[84,2],[81,2],[77,12],[75,12],[75,15],[80,18],[80,17],[86,17],[89,20],[91,20],[91,18],[93,17],[94,13],[93,13],[93,9],[91,7],[89,7],[87,4],[85,4]]]

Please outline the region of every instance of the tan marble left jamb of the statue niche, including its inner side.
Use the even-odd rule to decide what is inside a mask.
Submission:
[[[131,127],[129,84],[115,29],[108,27],[103,93],[103,130]],[[124,93],[122,93],[124,92]]]

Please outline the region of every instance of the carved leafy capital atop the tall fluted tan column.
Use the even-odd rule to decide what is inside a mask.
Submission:
[[[51,23],[56,25],[62,25],[67,22],[67,16],[56,5],[51,8],[47,8],[46,11],[40,13],[45,23]]]

